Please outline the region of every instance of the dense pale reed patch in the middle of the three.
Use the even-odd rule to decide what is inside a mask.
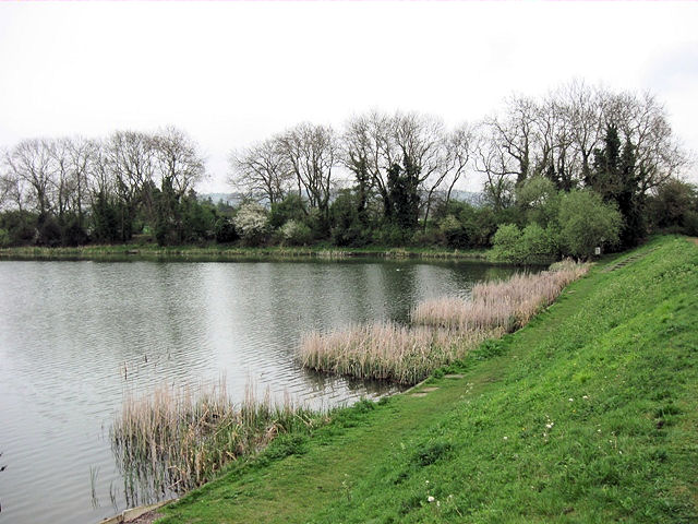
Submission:
[[[455,332],[392,322],[313,331],[302,337],[300,360],[305,368],[332,374],[414,384],[498,334],[496,329]]]

